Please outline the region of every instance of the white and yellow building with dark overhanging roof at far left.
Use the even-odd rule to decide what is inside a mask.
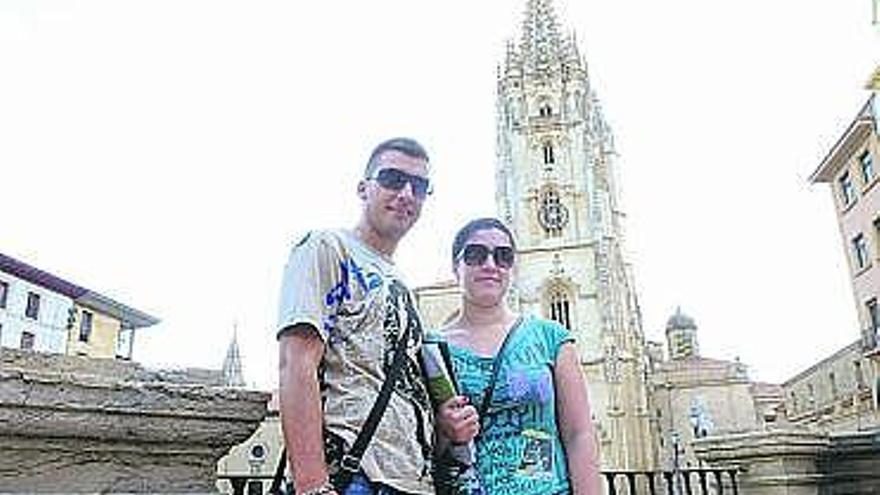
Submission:
[[[134,332],[159,320],[0,254],[0,346],[131,359]]]

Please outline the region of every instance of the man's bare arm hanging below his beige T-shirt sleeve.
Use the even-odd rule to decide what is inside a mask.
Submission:
[[[278,340],[279,406],[287,458],[297,493],[328,480],[318,365],[324,343],[310,325],[296,325]]]

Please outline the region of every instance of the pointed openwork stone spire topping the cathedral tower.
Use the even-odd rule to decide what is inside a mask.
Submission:
[[[532,73],[546,73],[562,58],[552,0],[528,0],[520,51]]]

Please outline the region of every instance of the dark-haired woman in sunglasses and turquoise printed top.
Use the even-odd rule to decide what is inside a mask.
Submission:
[[[510,309],[515,258],[513,235],[494,218],[469,222],[452,245],[462,306],[441,333],[460,393],[480,414],[481,486],[462,491],[599,494],[595,431],[573,339],[555,322]],[[460,441],[448,425],[461,425],[463,410],[440,409],[442,434]]]

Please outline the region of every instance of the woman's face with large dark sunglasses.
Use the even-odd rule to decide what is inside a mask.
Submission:
[[[510,286],[513,262],[513,246],[503,231],[484,229],[471,234],[455,264],[465,298],[478,306],[501,303]]]

